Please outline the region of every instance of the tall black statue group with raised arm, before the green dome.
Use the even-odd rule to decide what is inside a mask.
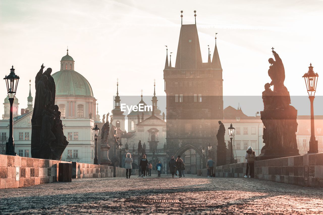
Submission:
[[[56,86],[51,77],[52,69],[45,66],[36,74],[36,95],[33,117],[31,119],[31,156],[32,158],[61,160],[68,145],[64,136],[60,111],[55,104]]]

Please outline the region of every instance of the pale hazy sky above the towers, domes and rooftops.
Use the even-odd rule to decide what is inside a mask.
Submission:
[[[274,47],[284,63],[291,105],[299,115],[307,115],[309,101],[302,76],[310,63],[319,75],[323,70],[322,9],[323,1],[318,0],[1,0],[0,73],[5,77],[14,65],[20,77],[16,94],[19,109],[26,108],[29,79],[34,83],[42,63],[53,73],[59,71],[68,46],[75,70],[92,86],[102,117],[113,109],[117,78],[121,99],[138,96],[139,102],[141,89],[144,96],[151,97],[154,79],[156,95],[165,96],[165,45],[173,52],[174,65],[180,11],[183,24],[193,24],[196,10],[203,62],[207,62],[207,45],[213,54],[218,33],[224,108],[236,108],[240,103],[249,116],[263,109],[259,96],[270,82],[268,58]],[[0,86],[0,98],[4,99],[4,80]],[[320,86],[318,79],[314,108],[315,114],[323,115]],[[34,96],[35,86],[31,89]],[[250,101],[253,96],[258,96],[259,102]]]

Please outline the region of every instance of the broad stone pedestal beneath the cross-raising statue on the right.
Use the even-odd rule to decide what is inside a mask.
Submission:
[[[297,110],[293,106],[287,106],[285,109],[266,109],[260,114],[265,126],[265,146],[257,160],[298,156]]]

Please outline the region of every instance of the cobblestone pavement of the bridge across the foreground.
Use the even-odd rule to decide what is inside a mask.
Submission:
[[[0,214],[323,213],[323,189],[186,175],[73,179],[0,190]]]

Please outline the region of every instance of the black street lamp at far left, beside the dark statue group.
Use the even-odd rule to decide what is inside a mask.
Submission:
[[[13,137],[13,103],[16,96],[16,90],[18,86],[19,76],[15,74],[14,66],[10,69],[10,74],[8,76],[5,76],[4,78],[5,83],[7,85],[7,93],[9,96],[9,102],[10,102],[10,120],[9,120],[9,138],[8,142],[6,143],[5,147],[5,154],[6,155],[16,155],[15,152],[15,142]]]

